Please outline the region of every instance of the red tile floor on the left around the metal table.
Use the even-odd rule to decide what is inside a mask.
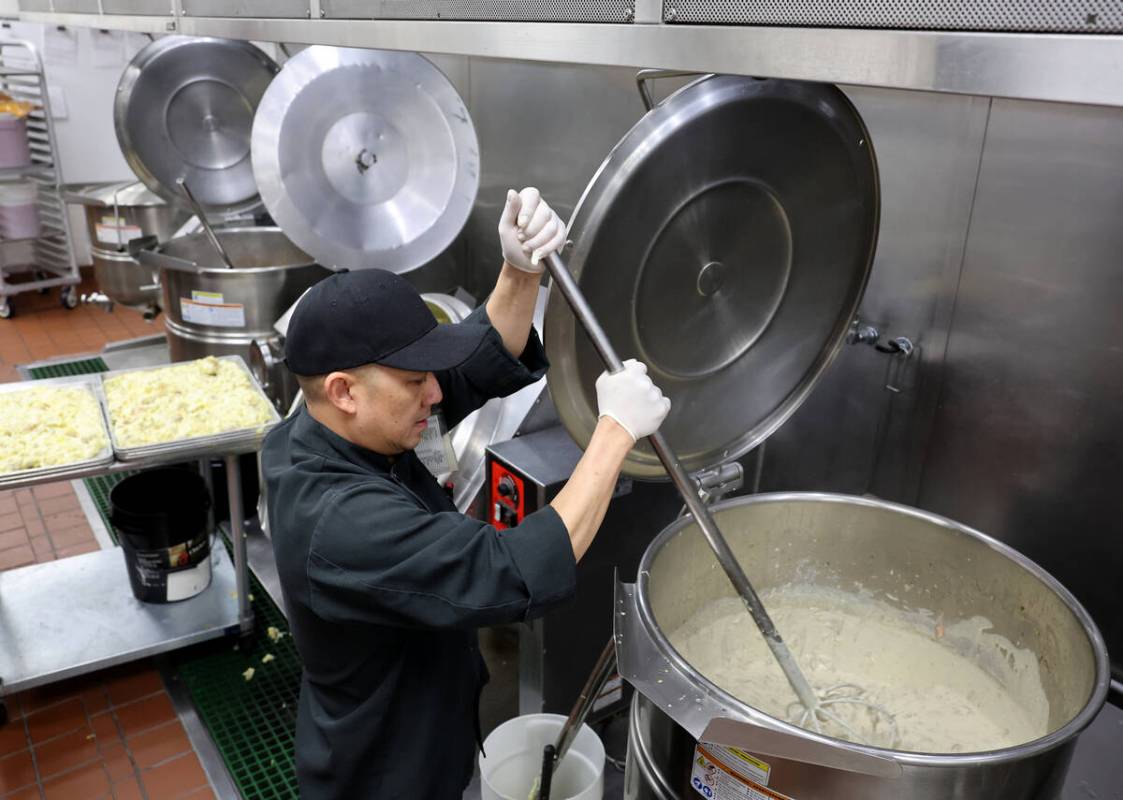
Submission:
[[[82,291],[92,291],[89,276]],[[57,291],[19,294],[0,320],[0,382],[16,365],[163,330],[118,308],[63,309]],[[0,571],[98,543],[69,483],[0,492]],[[139,662],[6,698],[0,800],[202,800],[214,794],[159,673]]]

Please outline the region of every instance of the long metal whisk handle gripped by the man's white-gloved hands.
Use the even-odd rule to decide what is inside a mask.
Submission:
[[[565,265],[557,253],[550,253],[546,258],[546,269],[549,270],[550,276],[562,291],[562,296],[573,309],[577,321],[581,322],[585,333],[588,334],[588,338],[593,342],[593,347],[601,355],[601,361],[604,362],[604,365],[610,372],[620,372],[623,370],[623,362],[620,361],[620,356],[612,348],[612,343],[609,342],[609,337],[604,334],[604,328],[596,320],[596,315],[593,313],[593,309],[590,308],[585,296],[582,294],[577,281],[574,280],[573,273],[569,272],[569,267]],[[803,676],[800,665],[795,663],[795,658],[792,657],[792,652],[784,644],[784,639],[780,638],[779,631],[776,630],[776,626],[772,621],[772,617],[768,616],[768,611],[765,610],[764,603],[760,602],[756,590],[749,583],[748,575],[745,574],[745,571],[737,561],[737,556],[733,555],[733,551],[729,548],[725,537],[721,535],[716,522],[713,521],[710,509],[706,508],[705,503],[702,502],[702,498],[699,497],[694,481],[691,480],[690,474],[683,469],[678,457],[670,449],[667,439],[660,431],[656,431],[649,436],[648,442],[651,443],[655,454],[663,462],[663,466],[667,470],[667,474],[670,475],[670,480],[674,482],[678,493],[683,496],[683,501],[686,503],[686,508],[690,509],[691,515],[693,515],[694,521],[702,530],[706,544],[710,545],[710,549],[716,556],[721,569],[725,571],[725,575],[733,584],[737,593],[740,594],[745,607],[752,616],[752,621],[757,624],[757,627],[765,637],[765,642],[768,643],[768,647],[784,671],[787,682],[792,684],[792,689],[798,696],[800,702],[807,709],[816,708],[819,700],[815,697],[814,690],[807,683],[807,679]]]

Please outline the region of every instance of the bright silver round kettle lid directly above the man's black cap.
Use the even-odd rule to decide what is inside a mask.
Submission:
[[[273,219],[332,267],[422,266],[459,234],[480,187],[468,110],[413,53],[298,53],[257,109],[253,161]]]

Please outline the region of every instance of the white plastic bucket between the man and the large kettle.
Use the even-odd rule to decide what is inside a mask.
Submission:
[[[495,728],[480,754],[483,800],[527,800],[542,771],[542,749],[554,744],[565,717],[528,713]],[[601,800],[604,796],[604,745],[587,725],[573,739],[550,783],[550,800]]]

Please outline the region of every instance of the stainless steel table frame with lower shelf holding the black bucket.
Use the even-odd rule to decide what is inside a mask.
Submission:
[[[221,448],[197,444],[135,461],[0,478],[0,489],[22,489],[222,456],[234,549],[232,565],[225,548],[212,552],[211,585],[174,603],[136,600],[116,547],[0,572],[0,698],[207,639],[250,634],[254,615],[238,456],[258,447],[257,438]]]

